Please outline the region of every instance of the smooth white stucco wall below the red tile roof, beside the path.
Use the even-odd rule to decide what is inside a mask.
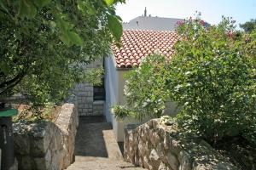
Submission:
[[[113,54],[108,58],[105,58],[105,90],[106,90],[106,105],[105,105],[105,116],[107,122],[112,122],[113,133],[115,134],[118,142],[124,141],[124,127],[130,123],[138,123],[133,119],[126,119],[125,121],[117,121],[111,113],[111,107],[113,105],[124,105],[125,104],[125,73],[129,70],[118,70],[116,63],[113,58]],[[166,103],[166,113],[174,113],[176,111],[176,105],[173,102]],[[144,120],[143,122],[147,122]]]

